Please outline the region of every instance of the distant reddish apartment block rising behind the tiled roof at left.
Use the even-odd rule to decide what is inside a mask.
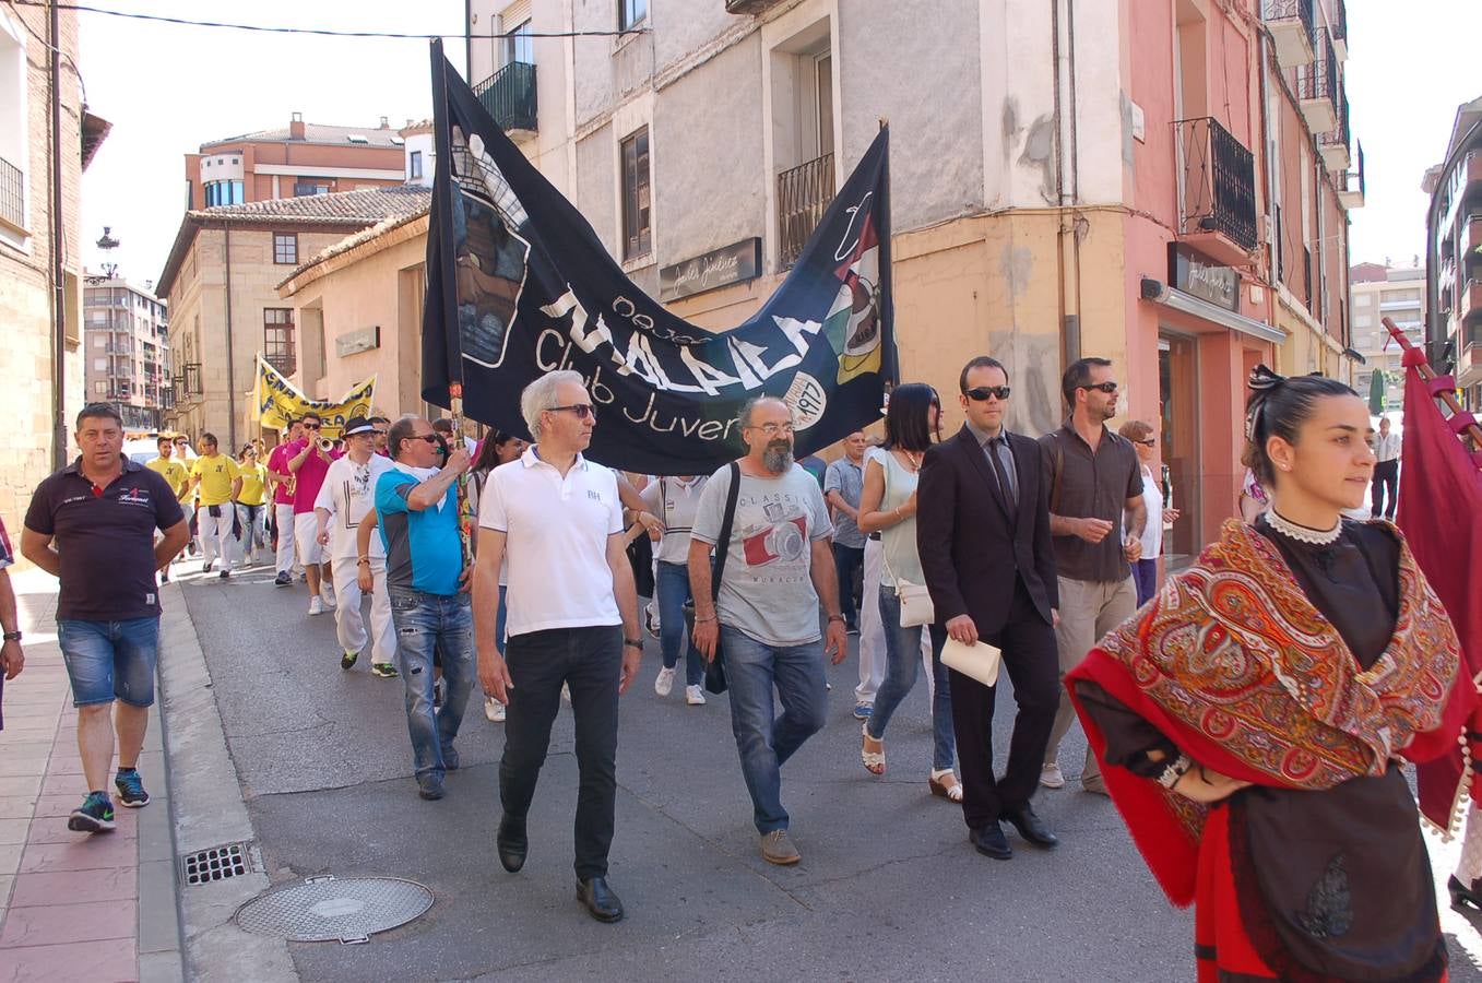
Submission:
[[[285,129],[213,139],[185,154],[185,208],[402,184],[403,142],[384,116],[376,126],[326,126],[293,113]]]

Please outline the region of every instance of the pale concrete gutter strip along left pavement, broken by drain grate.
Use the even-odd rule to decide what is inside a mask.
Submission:
[[[227,747],[221,712],[210,691],[210,670],[200,648],[184,589],[162,592],[160,682],[169,762],[173,854],[169,878],[178,884],[187,854],[245,842],[256,833],[242,799],[237,768]],[[141,870],[141,878],[142,878]],[[288,941],[237,928],[237,909],[271,887],[268,875],[246,875],[178,890],[185,976],[191,980],[298,980]]]

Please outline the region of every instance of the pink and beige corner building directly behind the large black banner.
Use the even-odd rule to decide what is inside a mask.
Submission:
[[[740,323],[891,126],[903,378],[1003,359],[1011,426],[1116,362],[1162,424],[1189,553],[1236,510],[1257,362],[1341,372],[1350,154],[1341,0],[471,0],[470,80],[624,270]],[[619,37],[550,37],[628,31]],[[754,274],[680,295],[731,252]],[[732,264],[750,270],[753,264]],[[954,400],[950,397],[948,405]]]

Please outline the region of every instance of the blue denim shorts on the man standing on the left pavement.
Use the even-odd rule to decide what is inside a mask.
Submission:
[[[58,620],[56,639],[73,682],[73,706],[123,700],[132,707],[154,703],[154,666],[160,618],[129,621]]]

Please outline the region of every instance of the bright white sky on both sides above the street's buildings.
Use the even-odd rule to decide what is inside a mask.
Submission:
[[[716,0],[719,3],[719,0]],[[1134,0],[1150,3],[1153,0]],[[462,0],[416,4],[368,0],[95,0],[116,10],[191,19],[246,21],[393,33],[443,33],[462,70]],[[1363,142],[1368,197],[1352,214],[1355,262],[1396,265],[1423,255],[1426,196],[1420,181],[1446,148],[1457,105],[1482,95],[1478,0],[1347,0],[1347,93]],[[256,34],[79,13],[82,71],[93,113],[113,132],[83,176],[83,256],[104,225],[111,255],[135,282],[159,277],[185,200],[184,154],[200,144],[313,123],[393,126],[430,114],[427,43]]]

